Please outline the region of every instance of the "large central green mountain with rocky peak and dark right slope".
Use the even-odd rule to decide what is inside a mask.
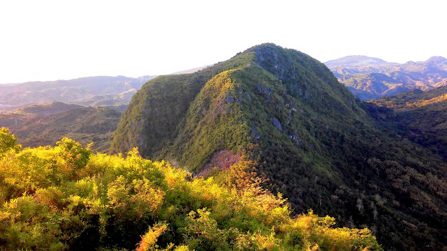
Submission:
[[[135,93],[111,151],[134,146],[197,176],[250,163],[295,213],[369,227],[386,250],[440,250],[446,167],[439,155],[376,123],[322,63],[263,44]],[[242,164],[241,164],[242,163]],[[230,179],[244,183],[244,176]]]

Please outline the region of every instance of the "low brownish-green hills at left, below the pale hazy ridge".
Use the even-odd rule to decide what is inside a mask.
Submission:
[[[26,147],[54,145],[62,137],[71,137],[82,144],[94,142],[94,151],[106,151],[121,115],[109,107],[52,102],[0,114],[0,126],[9,128]]]

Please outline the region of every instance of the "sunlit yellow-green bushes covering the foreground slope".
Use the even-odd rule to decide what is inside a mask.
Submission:
[[[251,164],[191,179],[137,149],[93,154],[64,138],[8,150],[0,250],[381,250],[368,229],[333,228],[312,211],[292,218],[285,199],[249,178]],[[232,185],[239,178],[246,182]]]

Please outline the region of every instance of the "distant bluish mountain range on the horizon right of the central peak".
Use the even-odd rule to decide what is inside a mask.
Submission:
[[[369,56],[345,56],[325,62],[335,77],[361,100],[392,96],[411,89],[427,91],[447,84],[447,59],[390,63]]]

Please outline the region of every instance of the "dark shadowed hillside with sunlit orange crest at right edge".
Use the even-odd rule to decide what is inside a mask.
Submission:
[[[392,128],[447,162],[447,86],[370,101],[369,112],[387,128]]]

